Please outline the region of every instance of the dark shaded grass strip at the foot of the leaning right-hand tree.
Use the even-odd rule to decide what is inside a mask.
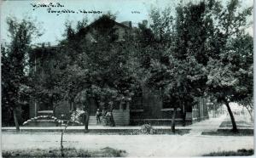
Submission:
[[[238,133],[234,133],[230,129],[218,129],[217,132],[202,132],[201,135],[212,135],[212,136],[253,136],[253,129],[238,129]]]

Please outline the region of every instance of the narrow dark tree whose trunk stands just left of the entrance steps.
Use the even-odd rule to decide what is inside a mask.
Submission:
[[[81,42],[81,38],[76,38],[75,35],[85,28],[87,20],[79,22],[77,30],[73,29],[71,24],[66,25],[66,39],[60,43],[61,54],[61,81],[59,87],[62,89],[62,96],[70,104],[71,110],[75,110],[75,99],[79,103],[84,104],[84,130],[88,132],[88,123],[90,109],[88,99],[84,98],[86,89],[90,87],[90,74],[87,59],[82,58],[81,46],[87,42]],[[87,52],[87,50],[83,50]],[[86,96],[85,96],[86,97]]]

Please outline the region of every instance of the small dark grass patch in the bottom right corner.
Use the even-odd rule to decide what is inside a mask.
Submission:
[[[237,151],[219,151],[219,152],[213,152],[207,155],[203,156],[245,156],[245,155],[253,155],[253,150],[237,150]]]

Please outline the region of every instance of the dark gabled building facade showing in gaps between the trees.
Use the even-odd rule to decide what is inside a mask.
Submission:
[[[143,21],[144,25],[147,25]],[[127,36],[133,36],[135,28],[132,27],[131,21],[118,23],[111,19],[99,19],[92,24],[81,29],[76,36],[83,37],[86,41],[97,43],[100,33],[109,33],[110,40],[113,42],[123,42]],[[35,61],[35,73],[44,76],[49,73],[50,61],[55,60],[56,47],[39,47],[37,55],[32,59]],[[36,69],[36,68],[35,68]],[[47,71],[48,70],[48,71]],[[131,103],[114,104],[113,119],[117,126],[142,125],[150,123],[152,125],[170,125],[172,122],[173,108],[165,104],[160,93],[152,92],[148,87],[143,86],[141,95],[133,97]],[[89,101],[90,107],[90,125],[96,125],[96,110],[102,110],[102,107],[96,104],[95,100]],[[83,109],[83,104],[70,104],[68,101],[61,101],[53,104],[39,102],[32,99],[29,105],[29,116],[35,118],[38,116],[53,116],[57,119],[68,119],[73,110]],[[55,110],[55,112],[54,112]],[[177,109],[176,121],[180,125],[188,125],[193,121],[201,121],[208,118],[207,99],[195,98],[195,104],[186,104]]]

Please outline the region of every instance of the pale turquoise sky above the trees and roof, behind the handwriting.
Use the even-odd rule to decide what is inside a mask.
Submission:
[[[183,0],[189,1],[189,0]],[[106,14],[111,11],[117,14],[117,22],[132,21],[132,25],[137,25],[142,20],[148,20],[148,13],[150,8],[166,8],[171,6],[173,14],[175,14],[175,7],[179,1],[168,0],[30,0],[30,1],[2,1],[1,3],[1,40],[9,42],[6,18],[8,16],[15,16],[18,20],[25,16],[36,19],[40,25],[43,36],[34,39],[32,43],[50,42],[56,44],[62,39],[64,33],[64,24],[67,20],[76,24],[78,20],[82,20],[87,16],[91,21],[95,20],[99,15]],[[39,7],[33,10],[32,5],[49,4],[57,5],[60,3],[63,7],[52,7],[52,10],[73,10],[75,13],[48,13],[47,8]],[[253,0],[243,0],[241,7],[252,6]],[[82,14],[79,10],[85,11],[101,11],[101,14]],[[253,27],[249,32],[253,35]]]

